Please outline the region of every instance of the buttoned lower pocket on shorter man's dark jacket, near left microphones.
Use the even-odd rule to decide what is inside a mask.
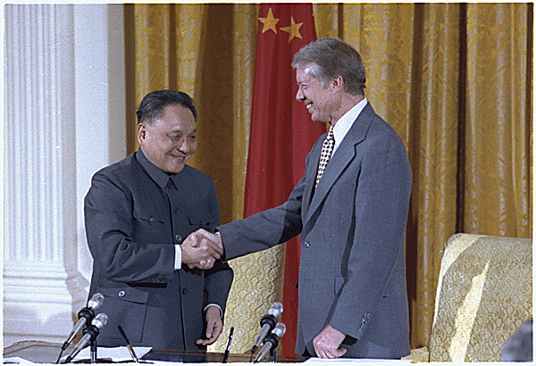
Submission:
[[[100,334],[103,337],[123,339],[117,329],[121,325],[129,340],[141,342],[149,294],[132,287],[98,287],[97,292],[105,296],[99,312],[108,315],[108,324]]]

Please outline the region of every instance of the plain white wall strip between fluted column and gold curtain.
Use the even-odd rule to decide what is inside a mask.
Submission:
[[[91,277],[84,196],[93,174],[126,156],[123,5],[74,5],[78,268]],[[87,284],[88,286],[88,284]]]

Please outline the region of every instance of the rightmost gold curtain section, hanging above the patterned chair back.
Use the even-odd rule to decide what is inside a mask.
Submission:
[[[532,235],[532,147],[527,149],[532,115],[526,119],[530,105],[524,97],[529,93],[529,6],[467,5],[466,134],[460,146],[465,148],[467,232]]]

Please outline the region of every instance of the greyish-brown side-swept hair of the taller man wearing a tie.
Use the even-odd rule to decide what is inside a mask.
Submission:
[[[312,65],[311,65],[312,64]],[[322,83],[338,76],[344,80],[344,91],[364,96],[364,64],[359,53],[348,43],[335,37],[320,38],[302,47],[294,55],[292,67],[311,71]]]

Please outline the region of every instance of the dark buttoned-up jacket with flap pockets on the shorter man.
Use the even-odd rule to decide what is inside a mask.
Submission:
[[[141,150],[93,176],[85,199],[93,274],[89,297],[100,292],[108,324],[98,345],[197,351],[205,334],[204,307],[225,303],[232,270],[173,270],[174,245],[189,233],[220,224],[214,182],[188,165],[168,176]]]

